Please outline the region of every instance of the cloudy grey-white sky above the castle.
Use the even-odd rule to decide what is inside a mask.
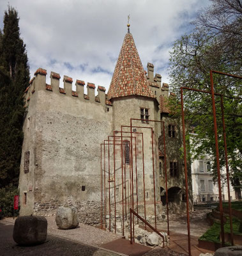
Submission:
[[[31,77],[39,68],[109,88],[127,31],[135,40],[146,70],[155,65],[162,83],[169,83],[167,66],[174,41],[189,32],[197,12],[208,0],[1,0],[0,28],[8,3],[20,17]]]

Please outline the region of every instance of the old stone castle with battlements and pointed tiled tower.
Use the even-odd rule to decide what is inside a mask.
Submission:
[[[100,212],[119,218],[122,204],[125,211],[133,204],[142,216],[153,216],[154,204],[157,215],[164,213],[163,135],[170,211],[185,210],[181,120],[169,116],[169,86],[154,76],[153,64],[144,71],[129,30],[107,94],[98,86],[95,95],[93,83],[84,94],[81,80],[73,91],[68,76],[60,86],[56,72],[47,84],[46,76],[38,68],[24,93],[20,215],[50,216],[64,204],[77,206],[80,221],[89,224],[100,223]]]

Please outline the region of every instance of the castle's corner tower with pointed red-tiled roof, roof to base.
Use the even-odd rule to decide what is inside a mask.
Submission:
[[[120,132],[118,132],[120,130],[127,132],[123,133],[124,141],[131,140],[128,136],[135,137],[135,140],[137,140],[137,147],[140,148],[140,151],[137,150],[137,161],[135,160],[137,163],[135,162],[132,165],[132,161],[127,161],[127,163],[123,163],[123,168],[124,170],[126,168],[133,170],[133,166],[137,166],[137,180],[133,182],[133,186],[135,187],[137,182],[138,189],[133,192],[133,196],[139,195],[140,201],[137,203],[137,208],[139,208],[140,214],[144,214],[144,202],[146,201],[146,214],[153,216],[155,208],[154,198],[156,198],[156,202],[159,201],[159,175],[156,166],[158,166],[158,134],[160,134],[160,125],[159,123],[151,122],[151,120],[158,120],[159,106],[158,100],[156,100],[157,95],[151,90],[129,29],[119,52],[107,97],[112,102],[113,130],[116,131],[117,135],[120,135]],[[129,133],[131,128],[128,127],[130,125],[130,118],[136,119],[132,121],[132,134]],[[136,132],[136,134],[133,132]],[[144,138],[143,155],[141,152],[143,146],[140,142],[142,140],[140,134]],[[134,140],[132,143],[135,143]],[[126,152],[133,152],[132,145]],[[122,166],[121,161],[119,162],[116,157],[116,166]],[[120,168],[117,168],[116,178],[117,182],[119,182],[118,184],[122,184],[120,173]],[[145,186],[143,184],[143,175],[146,180]],[[128,180],[128,177],[126,177],[126,180]],[[125,185],[125,189],[128,189],[128,186]],[[129,195],[128,192],[127,195]],[[136,208],[134,207],[134,209]],[[156,205],[156,210],[160,212],[160,204]]]

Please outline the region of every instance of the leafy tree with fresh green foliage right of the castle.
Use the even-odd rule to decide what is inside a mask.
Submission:
[[[186,86],[210,91],[209,70],[219,70],[241,76],[242,6],[239,0],[212,0],[213,4],[199,14],[197,27],[174,44],[170,52],[170,78],[173,91],[180,95]],[[223,8],[221,7],[223,6]],[[227,6],[225,8],[225,6]],[[231,182],[241,198],[242,182],[242,86],[240,79],[213,75],[215,92],[222,93],[227,132],[227,148]],[[236,97],[236,99],[234,99]],[[211,95],[185,92],[186,124],[194,128],[191,145],[193,156],[210,154],[216,180],[215,139]],[[174,102],[173,102],[174,103]],[[172,104],[172,102],[170,102]],[[177,108],[174,108],[174,111]],[[180,113],[176,113],[179,115]],[[220,97],[216,97],[220,165],[225,165]]]

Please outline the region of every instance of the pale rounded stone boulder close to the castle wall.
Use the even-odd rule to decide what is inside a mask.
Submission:
[[[59,229],[76,228],[79,224],[75,207],[59,207],[56,214],[56,225]]]

